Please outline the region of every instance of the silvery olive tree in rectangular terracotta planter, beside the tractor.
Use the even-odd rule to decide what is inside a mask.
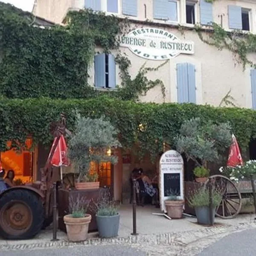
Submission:
[[[99,188],[98,175],[91,170],[91,163],[117,162],[116,156],[108,154],[109,149],[121,146],[117,134],[116,128],[103,117],[91,119],[77,113],[75,131],[68,144],[68,156],[77,174],[76,189]]]

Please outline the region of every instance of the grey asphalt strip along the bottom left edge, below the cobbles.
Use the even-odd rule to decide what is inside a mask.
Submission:
[[[146,256],[145,252],[121,245],[75,246],[0,252],[0,256]]]

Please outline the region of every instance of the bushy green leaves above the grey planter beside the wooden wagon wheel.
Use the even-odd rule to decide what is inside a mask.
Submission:
[[[212,189],[212,205],[217,207],[221,202],[221,192],[217,189]],[[203,207],[209,206],[209,190],[205,187],[200,187],[190,192],[188,198],[189,205],[191,207]]]

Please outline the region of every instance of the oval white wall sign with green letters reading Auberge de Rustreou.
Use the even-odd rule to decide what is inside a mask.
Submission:
[[[163,29],[134,29],[119,38],[121,47],[128,47],[134,54],[149,60],[167,60],[179,54],[194,54],[194,42],[181,41]]]

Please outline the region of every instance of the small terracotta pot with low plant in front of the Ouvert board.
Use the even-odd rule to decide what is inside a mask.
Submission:
[[[178,199],[176,191],[170,189],[168,199],[165,200],[167,215],[171,218],[182,218],[184,200]]]

